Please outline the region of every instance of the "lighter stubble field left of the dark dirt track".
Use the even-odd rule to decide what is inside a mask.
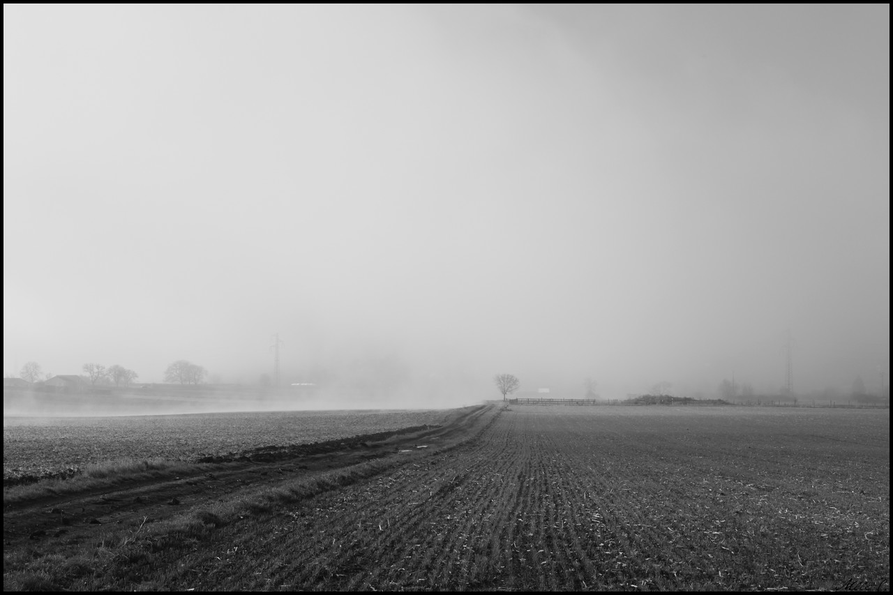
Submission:
[[[287,411],[121,417],[4,417],[4,482],[116,459],[190,461],[425,423],[443,410]]]

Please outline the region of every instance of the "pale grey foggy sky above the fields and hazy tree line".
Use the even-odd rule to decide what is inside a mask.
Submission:
[[[876,393],[889,4],[4,4],[4,373],[276,333],[457,404],[778,391],[789,336]]]

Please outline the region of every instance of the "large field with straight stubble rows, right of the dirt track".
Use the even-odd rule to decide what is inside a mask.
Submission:
[[[412,448],[140,562],[143,582],[65,586],[889,589],[889,410],[513,406]]]

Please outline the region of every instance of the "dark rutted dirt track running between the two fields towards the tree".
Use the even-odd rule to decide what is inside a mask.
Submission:
[[[183,511],[236,499],[243,490],[275,487],[372,459],[401,457],[420,441],[438,442],[463,433],[461,423],[421,425],[312,444],[252,448],[203,457],[188,472],[74,493],[48,494],[4,505],[4,549],[29,541],[79,541],[108,524],[158,522]]]

